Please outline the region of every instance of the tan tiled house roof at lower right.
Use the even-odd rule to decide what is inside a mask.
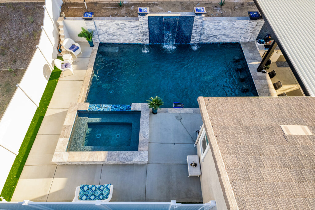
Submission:
[[[315,97],[199,97],[230,209],[315,209]],[[212,132],[213,131],[213,132]]]

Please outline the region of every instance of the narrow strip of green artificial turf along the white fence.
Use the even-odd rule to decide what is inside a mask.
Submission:
[[[62,57],[57,58],[62,60]],[[39,127],[42,124],[43,118],[46,114],[50,99],[53,96],[60,74],[61,71],[57,67],[54,67],[54,70],[52,71],[48,83],[46,85],[43,96],[39,102],[39,107],[37,107],[36,109],[34,117],[31,121],[31,125],[28,128],[24,140],[21,144],[19,154],[15,157],[8,178],[3,186],[1,196],[3,196],[3,198],[6,201],[11,201],[15,187],[18,184],[20,175],[25,165],[27,156],[30,153]]]

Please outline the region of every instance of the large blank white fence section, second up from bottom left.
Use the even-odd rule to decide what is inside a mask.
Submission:
[[[37,106],[18,88],[0,121],[0,145],[15,154],[19,149]]]

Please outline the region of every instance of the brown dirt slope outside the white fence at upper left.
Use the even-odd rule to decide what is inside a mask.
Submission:
[[[31,61],[43,24],[44,3],[0,4],[0,118]]]

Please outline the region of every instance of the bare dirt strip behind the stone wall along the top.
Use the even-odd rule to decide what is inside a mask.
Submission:
[[[220,7],[218,3],[192,2],[161,2],[161,3],[125,3],[122,7],[118,3],[65,3],[61,9],[66,17],[81,17],[83,12],[95,12],[94,17],[138,17],[138,7],[149,7],[150,12],[193,12],[194,7],[205,7],[206,17],[236,17],[248,16],[247,11],[257,11],[254,2],[236,3],[227,2]]]

